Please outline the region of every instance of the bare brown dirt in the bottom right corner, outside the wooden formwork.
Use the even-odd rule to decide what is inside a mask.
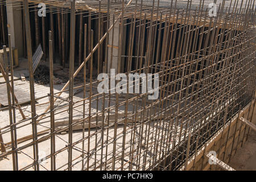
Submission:
[[[248,140],[232,156],[229,166],[237,171],[256,171],[256,131],[250,131]]]

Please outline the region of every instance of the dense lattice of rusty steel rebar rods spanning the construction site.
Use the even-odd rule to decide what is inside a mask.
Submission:
[[[10,142],[0,141],[6,148],[0,159],[12,156],[14,170],[177,170],[253,100],[254,0],[215,1],[215,15],[203,0],[185,6],[175,0],[12,2],[24,13],[31,94],[24,109],[14,99],[13,79],[6,77],[10,122],[0,137],[10,136]],[[46,3],[46,17],[34,13],[38,3]],[[36,105],[32,73],[32,50],[39,43],[49,60],[49,92],[42,97],[49,102],[43,110]],[[69,81],[58,92],[55,59],[69,64]],[[101,81],[93,76],[110,76],[110,68],[115,77],[158,74],[158,97],[98,93]],[[13,75],[12,64],[10,70]],[[74,86],[78,74],[84,79]],[[30,117],[16,119],[23,112]],[[27,136],[19,138],[26,127]],[[39,156],[42,150],[48,163]],[[24,156],[29,163],[23,165]]]

